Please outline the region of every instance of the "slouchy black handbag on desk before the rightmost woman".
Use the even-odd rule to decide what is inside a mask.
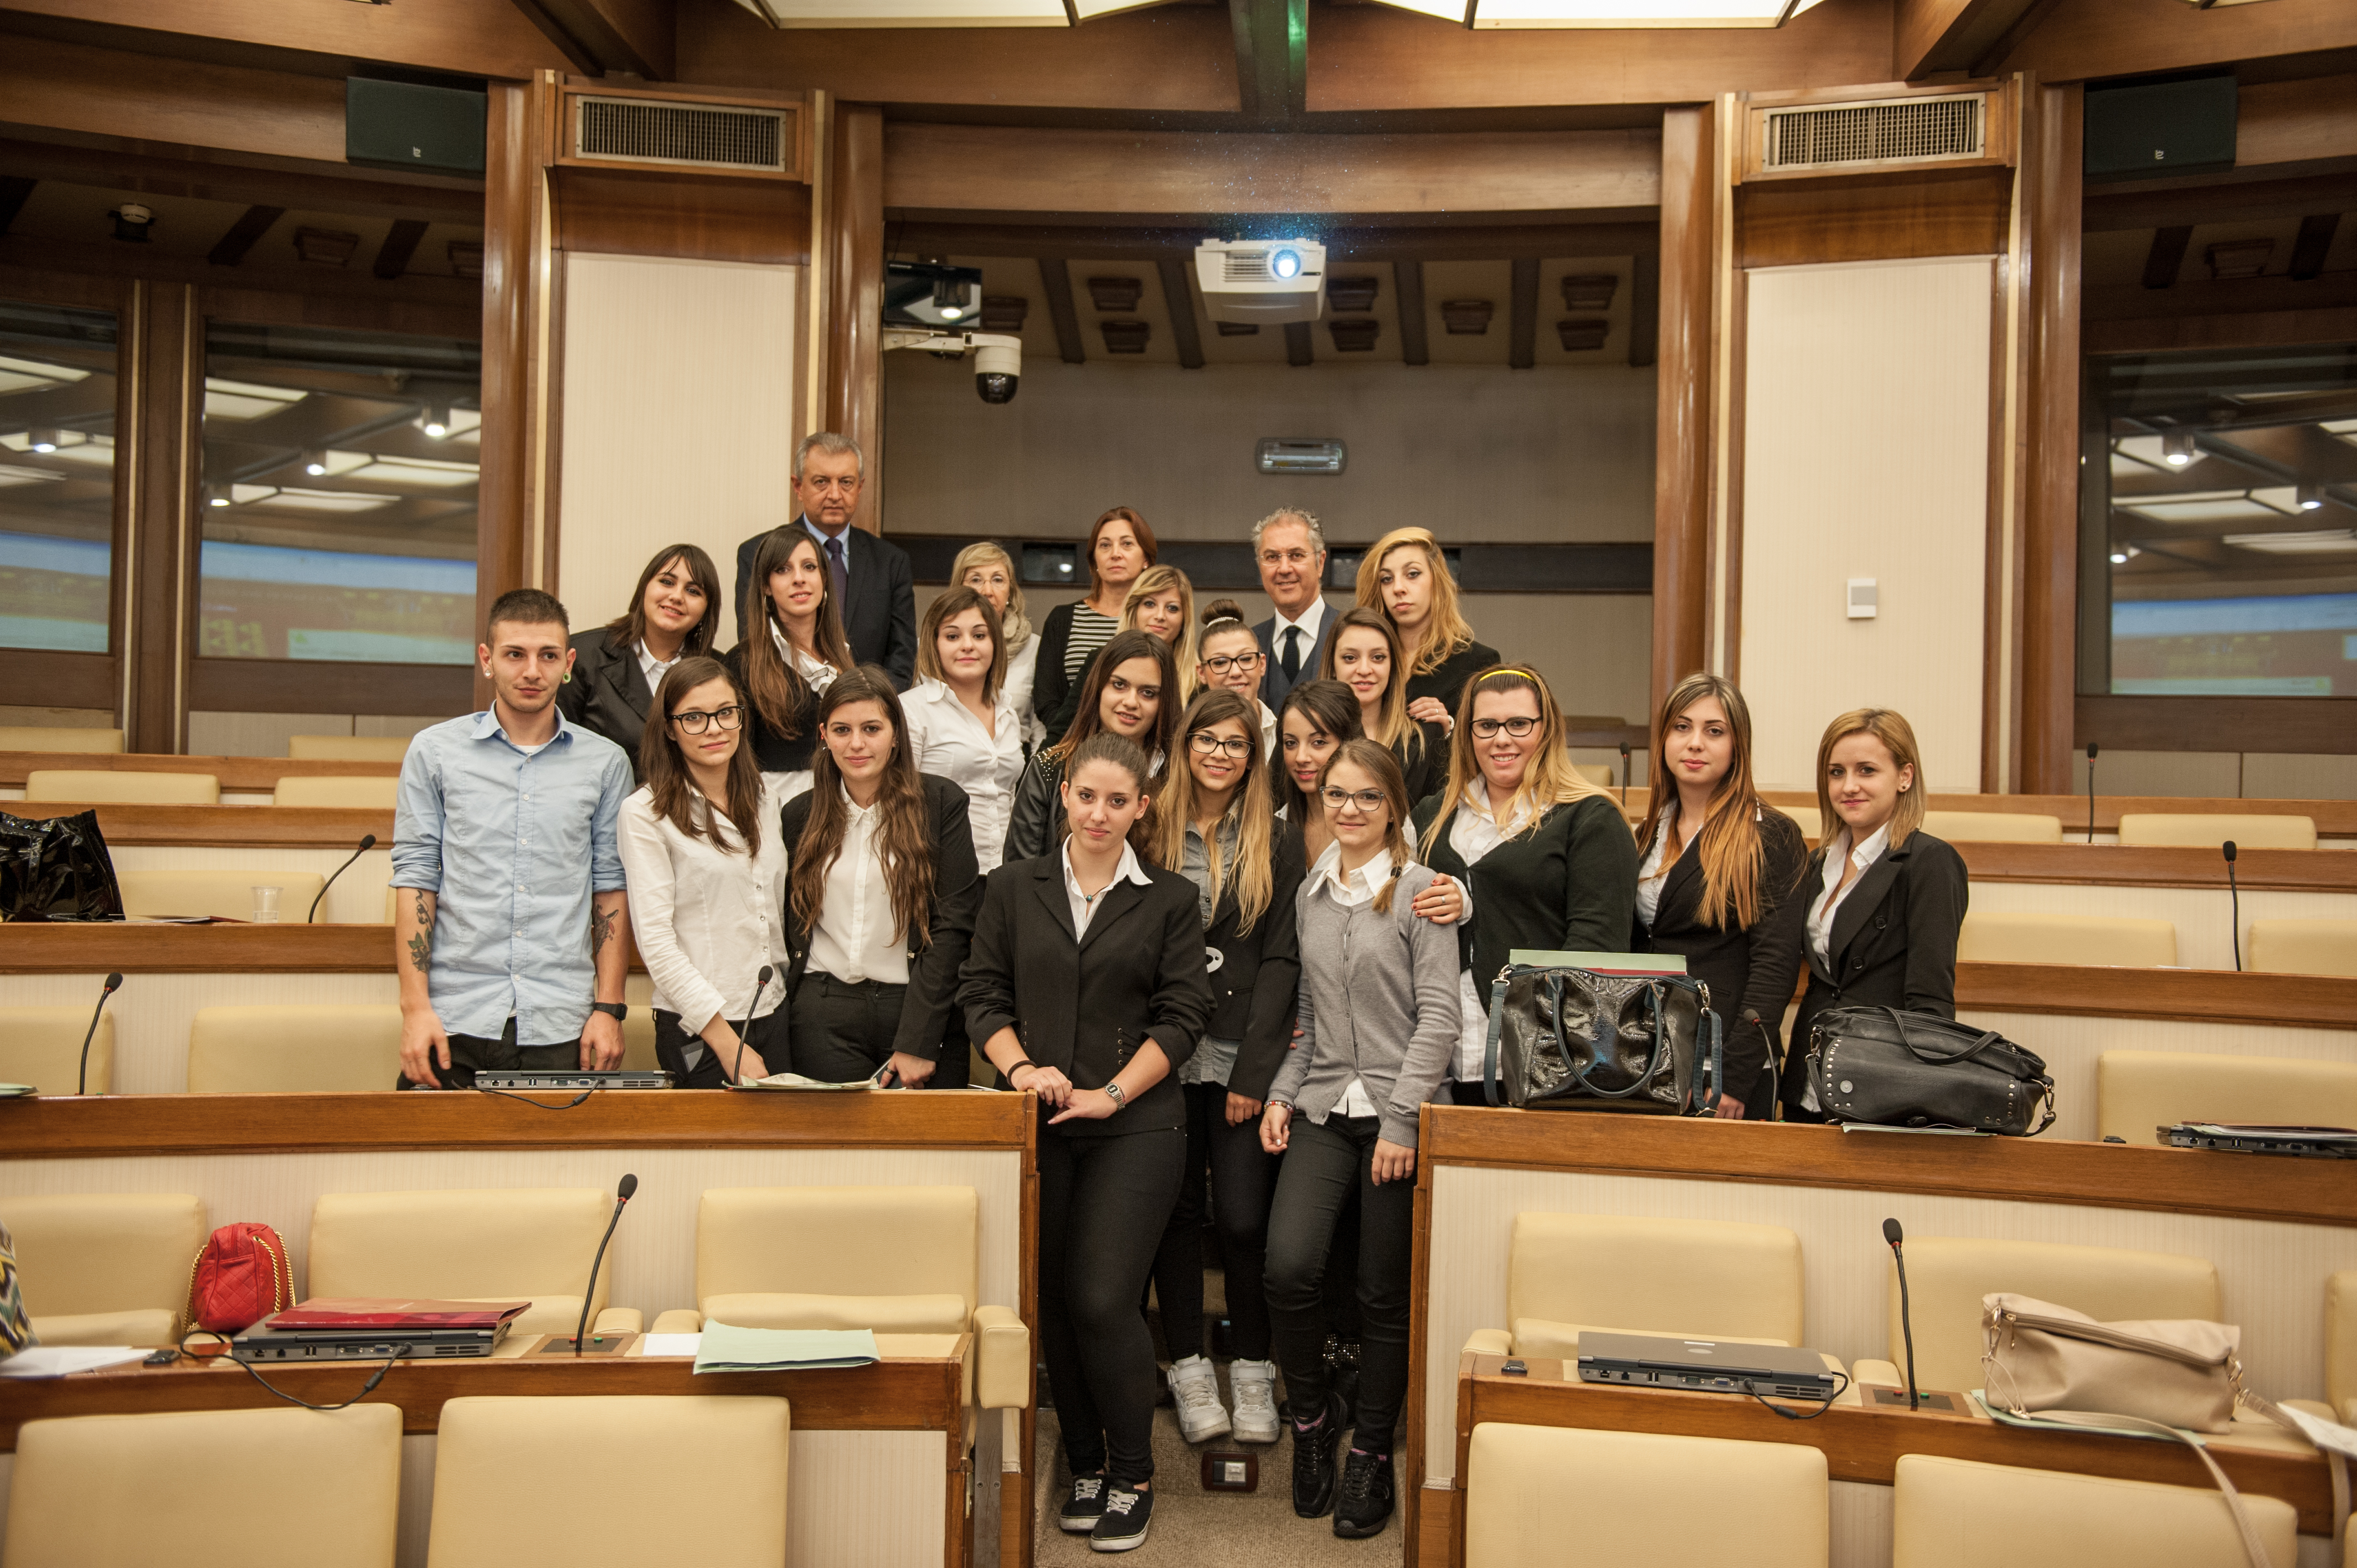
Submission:
[[[1808,1087],[1836,1122],[1968,1127],[2011,1139],[2055,1122],[2046,1063],[1994,1028],[1897,1007],[1831,1007],[1808,1030]],[[2029,1120],[2044,1111],[2036,1127]]]

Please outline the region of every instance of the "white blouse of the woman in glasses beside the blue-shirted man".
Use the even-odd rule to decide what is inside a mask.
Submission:
[[[726,813],[717,816],[733,851],[658,816],[648,788],[622,802],[618,839],[622,875],[629,877],[629,929],[655,981],[655,1007],[676,1012],[688,1035],[700,1035],[719,1014],[731,1023],[742,1023],[747,1012],[768,1016],[785,1000],[790,854],[778,832],[783,804],[780,776],[764,773],[761,851],[747,856]],[[712,811],[702,795],[695,806]],[[754,1002],[761,964],[775,974]]]

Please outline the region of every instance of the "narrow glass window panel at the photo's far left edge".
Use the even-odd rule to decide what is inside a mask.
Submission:
[[[115,316],[0,299],[0,648],[106,653]]]

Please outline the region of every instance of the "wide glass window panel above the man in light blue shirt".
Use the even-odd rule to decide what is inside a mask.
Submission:
[[[210,658],[474,658],[481,344],[205,330]]]

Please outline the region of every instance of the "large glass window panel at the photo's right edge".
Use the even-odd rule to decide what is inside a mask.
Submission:
[[[2091,361],[2081,691],[2357,696],[2357,344]]]

